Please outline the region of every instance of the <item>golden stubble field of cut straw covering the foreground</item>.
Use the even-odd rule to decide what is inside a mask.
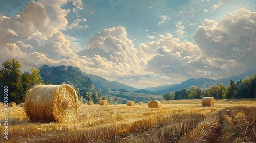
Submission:
[[[256,142],[255,99],[216,100],[214,107],[201,100],[161,104],[82,105],[74,123],[30,123],[22,107],[8,107],[9,141],[0,107],[0,142]]]

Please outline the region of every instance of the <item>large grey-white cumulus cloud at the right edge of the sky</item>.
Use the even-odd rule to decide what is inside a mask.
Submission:
[[[225,67],[226,70],[234,69],[235,66],[248,69],[256,61],[255,18],[255,12],[241,8],[235,14],[225,15],[218,22],[206,19],[204,26],[196,30],[194,41],[204,55],[218,59],[215,67]]]

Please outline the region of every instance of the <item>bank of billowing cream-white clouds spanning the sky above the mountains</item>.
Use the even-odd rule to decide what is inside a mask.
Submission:
[[[82,71],[137,87],[177,83],[191,77],[222,78],[254,67],[256,13],[239,9],[219,21],[205,19],[193,36],[181,41],[170,33],[148,37],[135,47],[122,26],[95,34],[80,51],[73,51],[62,31],[68,25],[66,1],[30,1],[19,15],[0,15],[0,62],[15,58],[25,67],[73,65]],[[82,9],[81,1],[73,5]],[[166,17],[162,17],[166,21]],[[84,19],[85,21],[85,19]],[[184,28],[176,35],[182,37]],[[234,67],[238,67],[234,71]]]

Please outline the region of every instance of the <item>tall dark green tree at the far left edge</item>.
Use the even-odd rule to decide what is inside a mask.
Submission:
[[[20,103],[23,99],[21,67],[22,66],[17,60],[9,59],[6,62],[3,62],[2,68],[0,69],[0,80],[2,81],[3,86],[8,86],[10,102]]]

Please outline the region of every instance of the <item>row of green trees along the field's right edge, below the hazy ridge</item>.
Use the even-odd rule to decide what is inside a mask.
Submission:
[[[220,83],[219,85],[212,85],[208,89],[201,90],[193,85],[189,89],[178,90],[174,94],[168,92],[163,95],[165,100],[200,99],[203,97],[214,97],[218,99],[255,98],[256,74],[254,74],[252,78],[247,76],[237,82],[230,80],[230,84],[226,87]]]

